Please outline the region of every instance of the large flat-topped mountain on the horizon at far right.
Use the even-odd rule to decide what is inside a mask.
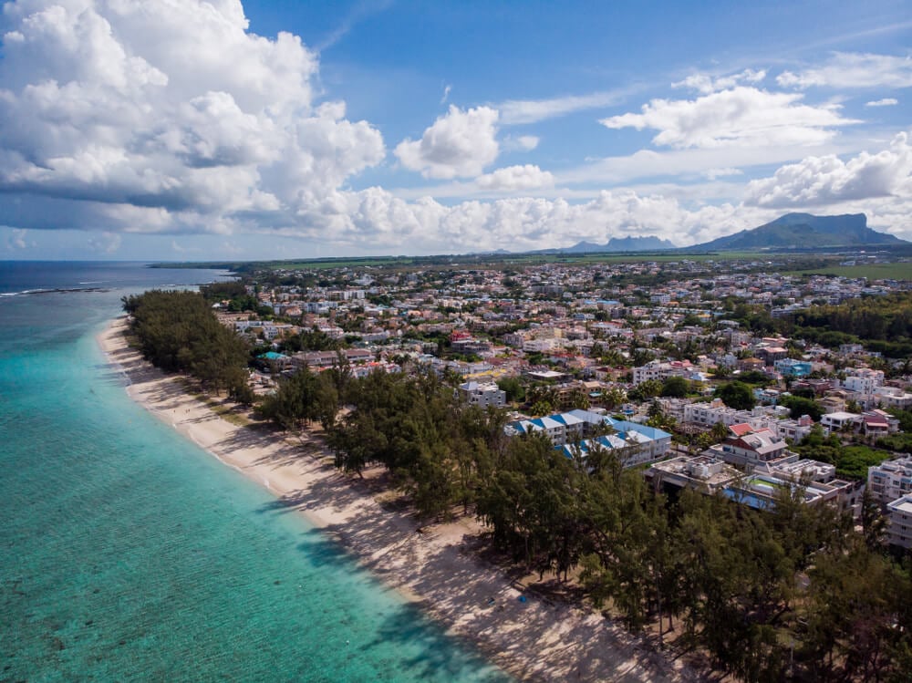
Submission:
[[[823,247],[904,244],[891,234],[877,233],[867,227],[864,213],[841,216],[814,216],[811,213],[786,213],[775,221],[752,230],[696,244],[692,250],[717,252],[754,249],[814,249]]]

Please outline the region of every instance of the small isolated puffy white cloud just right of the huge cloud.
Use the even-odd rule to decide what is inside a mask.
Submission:
[[[426,178],[475,176],[497,159],[497,109],[462,110],[450,105],[420,140],[402,140],[395,154],[411,171]]]

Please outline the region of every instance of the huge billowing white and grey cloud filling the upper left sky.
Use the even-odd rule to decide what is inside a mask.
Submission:
[[[344,104],[315,103],[315,54],[249,33],[238,0],[29,0],[5,25],[4,222],[227,233],[385,156]]]

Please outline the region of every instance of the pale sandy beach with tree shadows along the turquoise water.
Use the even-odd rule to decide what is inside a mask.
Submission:
[[[521,591],[496,566],[477,558],[471,520],[420,527],[378,501],[376,478],[341,474],[320,440],[239,427],[187,393],[128,347],[126,317],[98,335],[128,396],[181,436],[264,486],[288,512],[331,535],[380,582],[416,603],[448,636],[469,641],[496,667],[522,680],[679,681],[679,663],[652,651],[591,610],[551,604]],[[491,598],[494,603],[489,603]]]

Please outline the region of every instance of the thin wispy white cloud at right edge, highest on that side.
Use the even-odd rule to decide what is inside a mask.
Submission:
[[[836,52],[822,67],[783,71],[776,82],[785,88],[909,88],[912,58]]]

